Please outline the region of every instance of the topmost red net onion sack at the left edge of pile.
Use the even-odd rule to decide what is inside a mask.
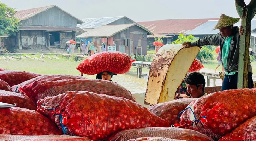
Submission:
[[[7,82],[11,87],[40,75],[41,74],[25,71],[0,71],[0,79]]]

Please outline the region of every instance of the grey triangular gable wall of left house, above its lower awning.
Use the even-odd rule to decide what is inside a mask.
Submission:
[[[53,7],[44,12],[41,12],[29,19],[23,20],[21,25],[37,25],[37,26],[64,26],[76,27],[77,20],[69,14]]]

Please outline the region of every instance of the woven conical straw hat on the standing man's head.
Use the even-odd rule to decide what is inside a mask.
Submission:
[[[227,15],[221,14],[220,19],[213,30],[221,29],[223,27],[233,25],[233,24],[239,22],[239,20],[240,20],[240,18],[233,18],[233,17],[229,17]]]

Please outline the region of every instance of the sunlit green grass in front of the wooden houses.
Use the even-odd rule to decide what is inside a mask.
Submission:
[[[4,55],[6,57],[6,55]],[[19,56],[19,55],[16,55]],[[26,54],[22,55],[26,56]],[[28,55],[31,57],[40,58],[40,55]],[[48,55],[45,55],[46,57]],[[53,57],[54,54],[49,55]],[[1,56],[0,56],[1,57]],[[79,75],[80,72],[77,71],[76,67],[81,61],[74,61],[73,57],[67,59],[63,56],[58,56],[60,59],[48,60],[45,58],[47,62],[43,62],[41,60],[32,60],[32,59],[21,59],[18,61],[0,60],[0,68],[9,69],[9,70],[19,70],[19,71],[28,71],[40,74],[69,74],[69,75]],[[203,63],[204,68],[215,69],[217,66],[217,61],[208,61],[207,63]],[[256,62],[251,62],[253,72],[256,72]],[[147,68],[142,69],[143,73],[149,72]],[[221,66],[218,68],[218,71],[221,71]],[[136,75],[137,69],[131,67],[128,74]],[[256,73],[255,73],[256,74]],[[88,78],[95,78],[96,76],[87,75]]]

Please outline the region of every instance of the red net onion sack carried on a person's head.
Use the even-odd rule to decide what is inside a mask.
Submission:
[[[77,70],[88,75],[95,75],[104,71],[122,74],[129,72],[131,66],[132,58],[128,54],[104,51],[85,59],[78,65]]]

